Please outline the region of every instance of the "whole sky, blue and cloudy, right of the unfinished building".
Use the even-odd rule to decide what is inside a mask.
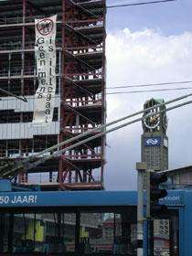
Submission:
[[[107,0],[107,4],[142,1]],[[191,0],[108,9],[107,87],[192,80],[191,10]],[[140,111],[147,99],[169,101],[189,92],[108,95],[107,122]],[[169,169],[192,165],[192,122],[188,118],[191,112],[189,105],[167,113]],[[142,133],[142,124],[135,123],[107,136],[106,189],[136,189],[135,165],[141,161]]]

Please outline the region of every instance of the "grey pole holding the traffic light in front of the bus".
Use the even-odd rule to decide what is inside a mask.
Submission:
[[[137,256],[144,255],[144,173],[146,163],[136,163],[137,176]]]

